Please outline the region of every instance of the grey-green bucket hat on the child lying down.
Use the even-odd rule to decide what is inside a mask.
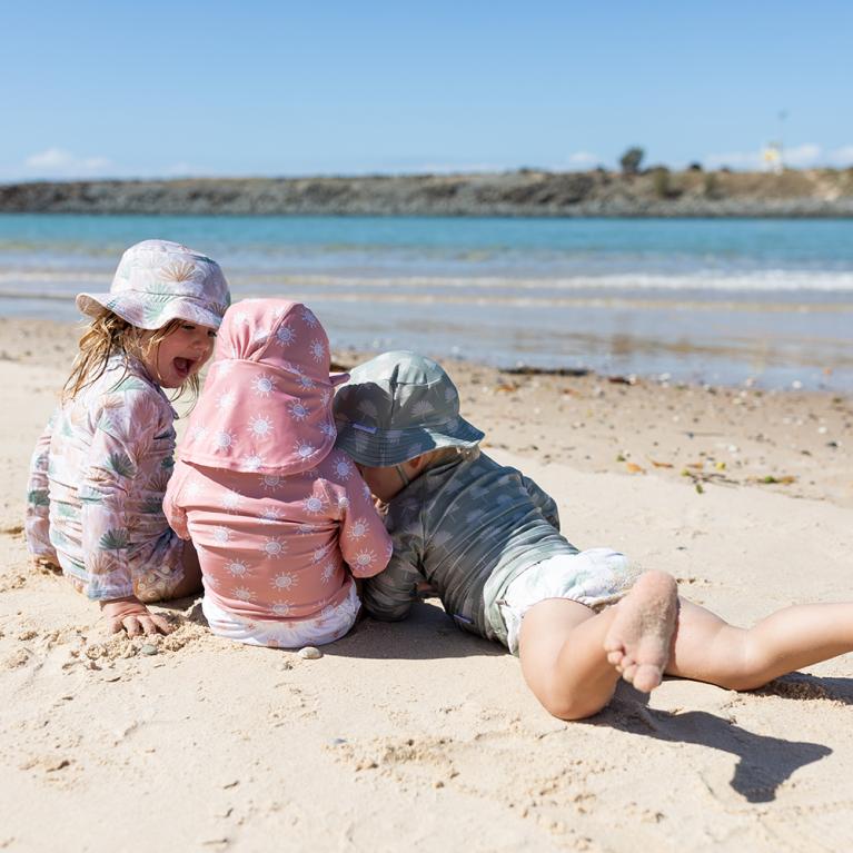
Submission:
[[[475,447],[484,437],[459,415],[450,377],[417,353],[384,353],[354,367],[334,407],[335,446],[375,468],[442,447]]]

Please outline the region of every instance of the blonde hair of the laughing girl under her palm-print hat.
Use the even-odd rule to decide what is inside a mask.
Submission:
[[[184,323],[186,320],[180,318],[169,320],[165,326],[155,329],[146,338],[146,329],[132,326],[117,314],[113,314],[109,308],[105,308],[92,318],[80,338],[80,349],[71,367],[71,375],[62,387],[62,401],[72,400],[83,388],[99,379],[107,369],[110,356],[122,353],[135,358],[143,358],[152,350],[156,354],[160,344]],[[125,376],[127,376],[127,373],[125,373]],[[152,378],[155,381],[157,380],[156,377]],[[120,383],[121,379],[118,381]],[[199,380],[197,374],[190,376],[178,388],[178,393],[172,399],[177,399],[185,391],[189,391],[194,397],[198,396]]]

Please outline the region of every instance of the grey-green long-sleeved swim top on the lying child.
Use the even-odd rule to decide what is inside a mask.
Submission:
[[[404,618],[400,589],[426,582],[464,628],[507,642],[498,596],[517,575],[575,551],[558,533],[557,506],[532,479],[477,449],[449,452],[388,505],[388,568],[364,586],[379,618]]]

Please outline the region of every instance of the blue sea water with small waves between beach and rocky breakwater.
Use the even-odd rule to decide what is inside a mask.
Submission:
[[[151,237],[337,347],[853,390],[851,220],[0,215],[0,315],[75,319]]]

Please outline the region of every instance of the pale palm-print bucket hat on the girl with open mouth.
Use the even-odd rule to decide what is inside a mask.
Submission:
[[[139,329],[181,319],[219,328],[231,301],[219,265],[169,240],[143,240],[119,261],[108,294],[79,294],[77,307],[93,317],[109,308]]]

